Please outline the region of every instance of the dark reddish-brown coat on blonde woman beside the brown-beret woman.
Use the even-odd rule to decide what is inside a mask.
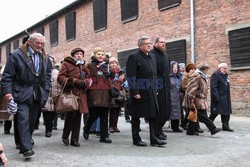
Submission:
[[[110,85],[108,73],[108,64],[105,62],[100,68],[97,68],[97,60],[93,57],[92,62],[88,64],[90,77],[93,80],[92,86],[88,89],[88,105],[89,107],[110,107]]]

